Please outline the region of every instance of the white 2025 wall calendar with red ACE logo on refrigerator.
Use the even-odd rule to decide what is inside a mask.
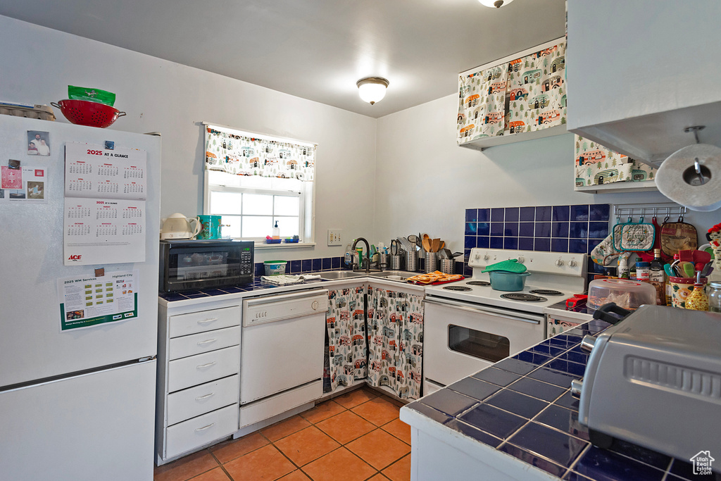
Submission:
[[[66,145],[66,265],[145,261],[146,174],[146,151]]]

